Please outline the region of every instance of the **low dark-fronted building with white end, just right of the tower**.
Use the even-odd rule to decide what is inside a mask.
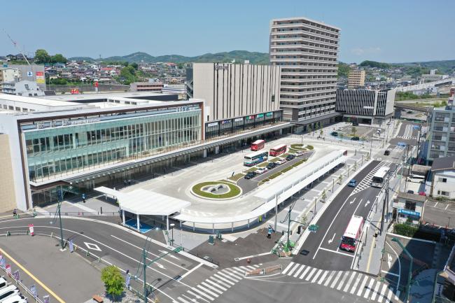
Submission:
[[[381,123],[393,115],[396,90],[337,90],[335,110],[344,120]]]

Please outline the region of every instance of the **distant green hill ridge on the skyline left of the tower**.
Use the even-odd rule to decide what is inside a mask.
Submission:
[[[231,52],[216,52],[214,54],[207,53],[195,57],[186,57],[181,55],[163,55],[154,57],[146,52],[134,52],[130,55],[125,56],[113,56],[102,58],[104,62],[174,62],[174,63],[186,63],[186,62],[244,62],[244,60],[250,60],[251,64],[269,64],[269,54],[267,52],[248,52],[246,50],[232,50]],[[90,57],[71,57],[69,60],[76,61],[87,61],[94,62],[99,59]]]

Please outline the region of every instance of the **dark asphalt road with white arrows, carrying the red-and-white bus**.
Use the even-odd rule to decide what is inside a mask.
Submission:
[[[294,262],[311,265],[319,269],[347,270],[351,269],[353,253],[339,250],[342,234],[353,215],[367,217],[374,199],[379,194],[379,188],[369,185],[370,172],[376,171],[379,161],[373,161],[356,176],[357,188],[367,187],[360,192],[354,192],[354,188],[346,185],[335,199],[332,200],[328,209],[316,223],[319,226],[317,232],[309,234],[302,246],[309,251],[308,255],[296,255]]]

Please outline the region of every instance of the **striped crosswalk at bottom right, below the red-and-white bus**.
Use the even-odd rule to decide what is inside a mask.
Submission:
[[[400,302],[398,298],[400,293],[395,293],[395,289],[388,283],[378,281],[374,277],[360,272],[330,271],[290,262],[281,274],[375,302]]]

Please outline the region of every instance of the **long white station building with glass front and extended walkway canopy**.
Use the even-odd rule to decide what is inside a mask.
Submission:
[[[241,121],[226,116],[214,131],[214,121],[204,119],[204,99],[154,96],[87,96],[78,102],[0,94],[0,211],[90,195],[99,186],[120,188],[289,127],[270,111]]]

